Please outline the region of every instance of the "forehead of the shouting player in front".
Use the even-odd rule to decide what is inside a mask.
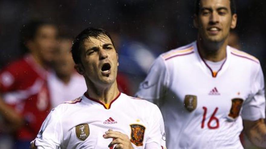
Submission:
[[[104,44],[112,44],[111,39],[108,36],[101,35],[97,38],[95,37],[88,37],[84,40],[84,47],[85,49],[91,48],[91,47],[98,47],[102,46]]]

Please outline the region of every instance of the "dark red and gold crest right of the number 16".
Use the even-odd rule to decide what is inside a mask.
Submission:
[[[229,117],[235,119],[239,116],[243,101],[244,100],[241,98],[232,99],[232,107],[230,109],[230,113],[228,114]]]

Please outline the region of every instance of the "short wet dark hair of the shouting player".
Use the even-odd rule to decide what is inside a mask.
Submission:
[[[84,29],[81,33],[79,33],[78,36],[74,39],[72,43],[71,53],[73,60],[76,64],[81,64],[81,50],[84,48],[84,41],[85,39],[89,39],[89,37],[93,37],[96,39],[103,39],[109,37],[111,39],[112,44],[114,45],[114,42],[110,36],[110,34],[101,28],[94,28],[89,27]],[[114,45],[115,46],[115,45]]]

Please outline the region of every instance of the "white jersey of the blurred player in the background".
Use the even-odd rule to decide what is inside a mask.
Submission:
[[[47,80],[52,108],[65,101],[75,99],[87,91],[84,77],[77,73],[71,76],[67,84],[62,82],[54,72],[49,74]]]

